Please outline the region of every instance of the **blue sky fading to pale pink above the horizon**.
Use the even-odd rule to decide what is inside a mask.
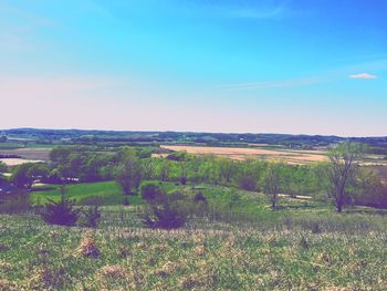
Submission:
[[[387,0],[0,0],[0,128],[387,136]]]

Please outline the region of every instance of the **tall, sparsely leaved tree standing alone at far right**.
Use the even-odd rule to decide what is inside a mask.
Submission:
[[[342,212],[343,206],[348,202],[351,186],[358,174],[358,160],[363,157],[364,146],[357,143],[345,142],[328,152],[330,163],[325,167],[327,178],[327,195]]]

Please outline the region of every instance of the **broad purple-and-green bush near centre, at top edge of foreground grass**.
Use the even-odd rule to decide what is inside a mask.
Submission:
[[[171,194],[148,202],[144,225],[150,228],[175,229],[182,227],[190,207],[181,194]]]

